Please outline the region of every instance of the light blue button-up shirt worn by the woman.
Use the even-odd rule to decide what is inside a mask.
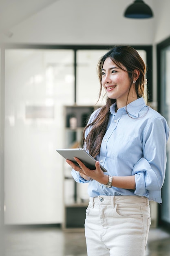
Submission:
[[[128,111],[128,114],[126,112]],[[91,122],[98,110],[91,115]],[[90,128],[86,130],[88,134]],[[110,107],[110,117],[103,137],[100,154],[96,159],[112,176],[135,175],[136,189],[106,188],[95,180],[84,180],[72,170],[76,182],[89,182],[88,195],[139,195],[161,203],[161,187],[166,171],[166,143],[169,136],[166,119],[146,106],[139,98],[119,108]],[[114,179],[113,179],[114,180]]]

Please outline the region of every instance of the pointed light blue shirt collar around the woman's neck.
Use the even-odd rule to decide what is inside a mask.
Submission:
[[[116,103],[114,103],[112,106],[110,106],[110,112],[111,114],[115,115],[115,106]],[[136,99],[135,101],[132,101],[131,103],[129,103],[127,106],[124,106],[123,108],[119,108],[118,111],[120,110],[127,110],[127,112],[130,115],[133,115],[135,117],[139,116],[139,112],[142,108],[144,108],[146,106],[146,103],[144,101],[144,98],[141,97],[139,99]]]

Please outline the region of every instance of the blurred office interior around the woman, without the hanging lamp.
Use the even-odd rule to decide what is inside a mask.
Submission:
[[[132,0],[0,3],[0,225],[1,247],[7,247],[2,253],[86,255],[87,185],[75,184],[56,149],[79,146],[84,118],[104,104],[97,102],[96,66],[110,47],[139,51],[148,65],[149,104],[170,126],[170,1],[145,2],[153,18],[125,18]],[[170,255],[169,173],[168,141],[163,202],[150,202],[147,255]],[[33,242],[38,237],[40,251]]]

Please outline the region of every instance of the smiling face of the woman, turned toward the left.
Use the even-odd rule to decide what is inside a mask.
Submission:
[[[102,86],[108,98],[116,99],[117,108],[124,107],[137,99],[135,84],[131,85],[126,68],[123,65],[121,67],[122,69],[110,58],[106,58],[102,68]]]

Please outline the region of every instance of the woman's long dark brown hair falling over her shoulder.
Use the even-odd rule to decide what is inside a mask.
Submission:
[[[137,93],[137,97],[144,97],[145,98],[145,87],[144,87],[144,80],[145,80],[145,73],[146,73],[146,65],[142,60],[141,56],[138,52],[130,47],[130,46],[114,46],[107,52],[102,58],[99,60],[97,65],[98,69],[98,77],[100,81],[100,92],[99,98],[102,94],[102,67],[106,58],[110,58],[119,68],[123,69],[121,65],[124,65],[126,71],[128,72],[130,78],[130,84],[133,83],[133,72],[134,70],[139,70],[139,78],[135,83],[135,90]],[[130,85],[130,86],[131,86]],[[116,99],[110,99],[107,97],[106,105],[103,106],[97,117],[88,124],[84,128],[83,133],[83,143],[86,149],[89,150],[90,155],[96,157],[100,152],[100,146],[102,143],[102,139],[106,133],[106,128],[108,125],[108,118],[110,114],[110,106],[116,102]],[[88,133],[87,137],[85,138],[85,131],[86,129],[91,126],[91,130]]]

